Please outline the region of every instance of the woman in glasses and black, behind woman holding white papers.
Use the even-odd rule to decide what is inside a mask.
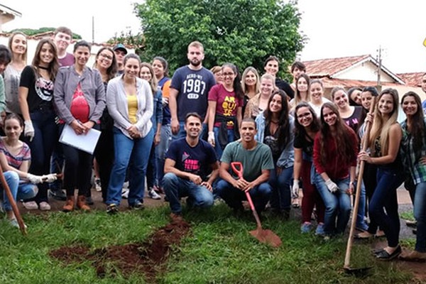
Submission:
[[[105,92],[107,92],[107,85],[109,80],[116,77],[117,74],[117,61],[115,53],[111,48],[99,49],[96,58],[94,59],[94,69],[97,69],[102,77]],[[114,134],[112,129],[114,121],[108,112],[108,107],[105,107],[101,116],[101,123],[99,128],[101,136],[94,149],[94,158],[99,169],[99,178],[101,183],[102,200],[107,201],[107,190],[109,178],[111,176],[112,163],[114,163]],[[88,191],[87,193],[89,193]]]

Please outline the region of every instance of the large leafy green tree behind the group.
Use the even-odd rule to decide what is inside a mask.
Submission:
[[[296,2],[282,0],[146,0],[136,4],[145,38],[142,57],[161,55],[170,69],[187,64],[187,45],[204,44],[203,65],[233,62],[263,70],[270,55],[281,70],[295,60],[305,37],[298,32]]]

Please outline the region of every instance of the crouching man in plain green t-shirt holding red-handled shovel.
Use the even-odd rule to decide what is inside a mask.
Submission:
[[[270,171],[273,170],[271,148],[255,140],[256,122],[251,118],[243,119],[240,127],[241,141],[229,143],[222,154],[217,194],[234,212],[244,210],[241,204],[249,191],[257,212],[265,209],[271,197],[272,188],[268,183]],[[232,162],[241,162],[243,178],[237,179],[231,170]]]

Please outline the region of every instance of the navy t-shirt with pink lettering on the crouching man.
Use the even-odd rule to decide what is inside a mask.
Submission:
[[[165,158],[174,160],[178,170],[200,175],[202,180],[206,180],[212,172],[212,163],[217,161],[216,152],[209,143],[200,139],[197,146],[191,147],[185,137],[170,144]]]

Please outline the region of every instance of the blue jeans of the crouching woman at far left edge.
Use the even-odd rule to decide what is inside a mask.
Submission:
[[[4,178],[6,179],[7,185],[11,189],[11,193],[13,196],[13,200],[27,200],[35,197],[37,193],[37,187],[32,183],[19,183],[18,173],[13,171],[4,172]],[[5,211],[11,211],[12,206],[11,202],[9,202],[9,198],[7,198],[6,190],[3,189],[3,207]]]

